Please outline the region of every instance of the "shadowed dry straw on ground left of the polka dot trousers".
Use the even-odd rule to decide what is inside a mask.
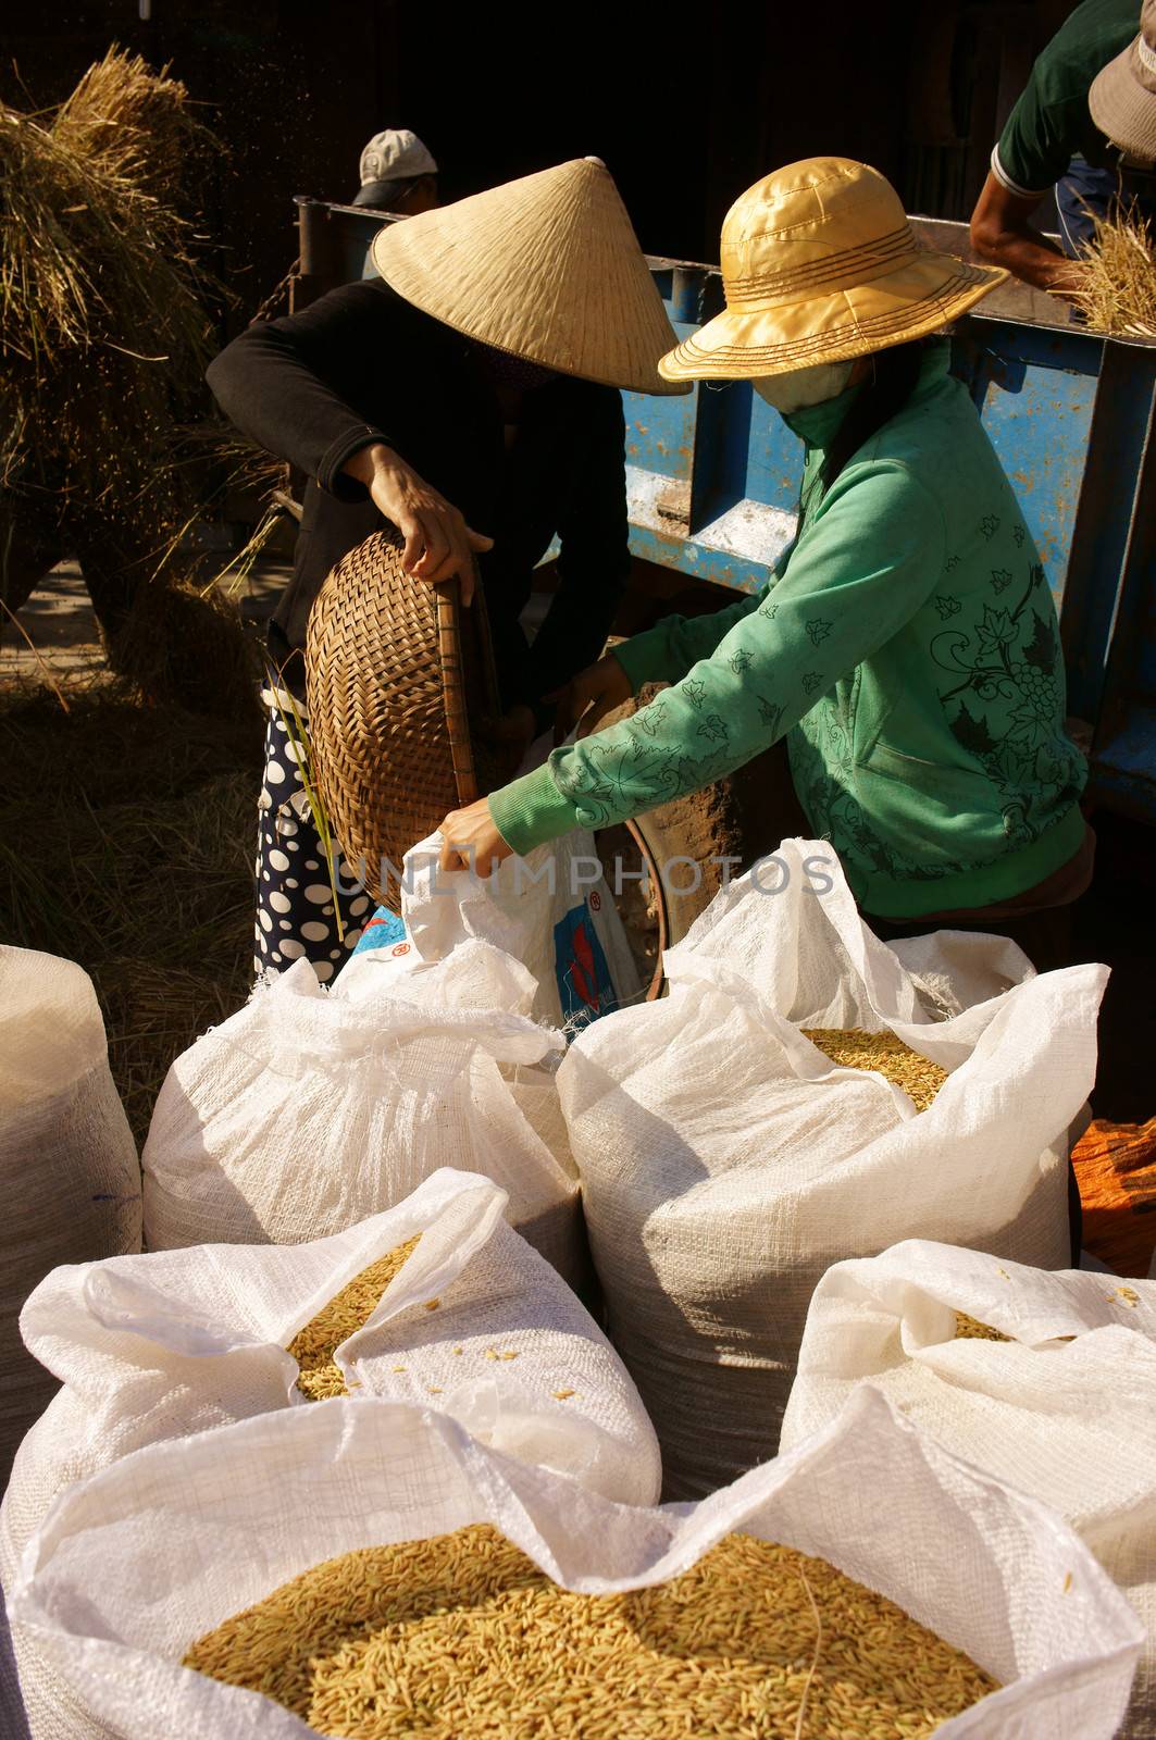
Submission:
[[[0,696],[0,940],[92,974],[143,1141],[169,1065],[252,983],[261,738],[124,686]]]

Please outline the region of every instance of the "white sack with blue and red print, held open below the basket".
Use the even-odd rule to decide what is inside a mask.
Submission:
[[[494,943],[531,971],[531,1014],[569,1032],[635,1002],[639,969],[602,877],[594,835],[578,828],[508,858],[493,875],[439,872],[440,833],[406,853],[402,919],[381,948],[359,948],[334,981],[343,997],[373,995],[468,938]]]

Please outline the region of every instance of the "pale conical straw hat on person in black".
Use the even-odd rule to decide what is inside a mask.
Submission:
[[[675,332],[594,157],[386,224],[373,258],[407,303],[494,350],[635,393],[688,392],[658,374]]]

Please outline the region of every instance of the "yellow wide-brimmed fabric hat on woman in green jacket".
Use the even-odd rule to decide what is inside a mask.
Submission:
[[[877,169],[810,157],[735,200],[726,310],[658,367],[669,381],[742,381],[865,357],[938,331],[1006,277],[919,247]]]

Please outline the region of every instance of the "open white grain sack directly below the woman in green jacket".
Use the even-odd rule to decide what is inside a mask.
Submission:
[[[1069,1260],[1065,1131],[1107,969],[1034,976],[1012,943],[951,934],[905,959],[917,976],[865,927],[830,846],[785,840],[669,952],[670,995],[597,1021],[559,1068],[609,1335],[670,1498],[775,1451],[830,1263],[902,1237]],[[917,1115],[804,1027],[891,1028],[951,1079]]]

